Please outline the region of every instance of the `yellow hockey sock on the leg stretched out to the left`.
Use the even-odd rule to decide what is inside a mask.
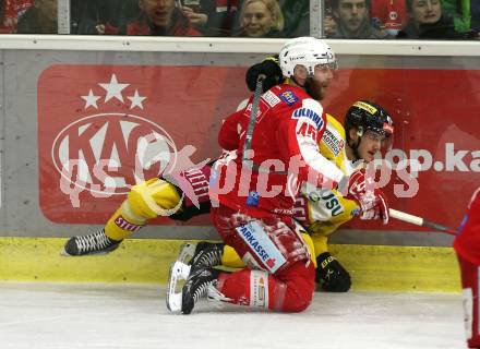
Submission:
[[[123,240],[158,215],[168,216],[180,207],[175,185],[158,178],[132,188],[127,200],[110,217],[105,233],[112,240]]]

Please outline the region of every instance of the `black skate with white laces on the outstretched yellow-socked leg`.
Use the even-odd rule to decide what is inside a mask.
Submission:
[[[63,255],[80,256],[88,254],[106,254],[116,250],[120,241],[115,241],[105,234],[105,230],[89,233],[87,236],[73,237],[67,241],[63,248]]]

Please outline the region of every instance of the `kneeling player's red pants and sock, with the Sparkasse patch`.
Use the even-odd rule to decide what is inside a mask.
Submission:
[[[213,222],[249,266],[218,278],[218,290],[236,304],[299,312],[311,302],[315,269],[301,236],[288,217],[255,219],[221,206]],[[262,269],[262,270],[257,270]]]

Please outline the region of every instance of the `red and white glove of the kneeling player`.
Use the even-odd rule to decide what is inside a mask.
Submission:
[[[355,200],[361,208],[360,219],[382,219],[388,222],[388,203],[380,189],[375,188],[373,178],[367,178],[364,170],[350,176],[347,198]]]

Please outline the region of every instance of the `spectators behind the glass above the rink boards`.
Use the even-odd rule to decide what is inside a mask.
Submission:
[[[56,34],[58,0],[0,0],[0,33]],[[480,39],[479,0],[324,0],[325,37]],[[71,34],[287,38],[310,0],[71,0]]]

